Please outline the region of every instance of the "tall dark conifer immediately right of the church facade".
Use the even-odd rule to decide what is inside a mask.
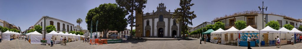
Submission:
[[[194,11],[190,12],[191,6],[194,4],[191,4],[192,0],[180,0],[179,6],[181,8],[177,8],[173,14],[172,18],[176,18],[176,23],[182,24],[182,32],[185,30],[188,30],[188,25],[192,24],[192,19],[196,18],[197,16],[194,14]]]

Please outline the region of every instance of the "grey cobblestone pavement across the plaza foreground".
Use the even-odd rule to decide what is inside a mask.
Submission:
[[[49,45],[30,44],[24,40],[2,40],[0,49],[247,49],[247,47],[218,45],[213,43],[199,44],[199,39],[193,40],[169,40],[169,41],[142,41],[132,40],[123,43],[89,45],[82,41],[69,42],[67,45],[55,44],[53,47]],[[269,47],[252,47],[253,49],[300,49],[302,43],[295,45],[281,45],[281,48],[276,46]]]

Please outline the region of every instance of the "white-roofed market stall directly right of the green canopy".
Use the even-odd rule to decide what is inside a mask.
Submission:
[[[211,35],[212,35],[211,39],[218,38],[218,41],[217,41],[218,44],[219,43],[225,44],[226,42],[224,41],[224,39],[222,39],[224,37],[221,36],[221,32],[223,32],[223,31],[224,31],[223,29],[219,28],[218,30],[211,32]],[[217,34],[219,34],[219,35],[217,36]],[[216,36],[213,36],[213,35],[216,35]]]

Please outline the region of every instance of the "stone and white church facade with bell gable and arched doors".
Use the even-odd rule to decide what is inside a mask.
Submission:
[[[181,37],[181,22],[176,23],[172,18],[174,12],[166,10],[164,4],[160,3],[157,10],[152,13],[136,15],[136,36],[137,37],[160,37],[173,38],[174,35]]]

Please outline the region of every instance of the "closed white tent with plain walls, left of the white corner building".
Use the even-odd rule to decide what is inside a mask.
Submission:
[[[40,34],[37,31],[34,31],[31,34],[29,34],[28,38],[30,39],[32,44],[38,44],[41,43],[42,34]]]

